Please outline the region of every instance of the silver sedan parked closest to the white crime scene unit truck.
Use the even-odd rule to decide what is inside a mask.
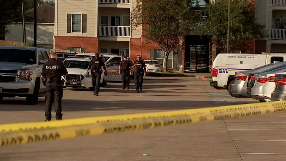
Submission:
[[[254,68],[252,70],[243,70],[235,72],[235,82],[231,85],[231,93],[230,95],[233,97],[250,97],[250,93],[247,93],[247,84],[250,80],[249,74],[262,72],[269,68],[277,67],[280,65],[286,65],[286,62],[277,62],[272,64],[267,64],[260,66],[258,68]],[[253,79],[254,77],[252,77]]]

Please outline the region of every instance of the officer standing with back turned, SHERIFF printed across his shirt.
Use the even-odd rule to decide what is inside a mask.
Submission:
[[[51,109],[53,102],[55,103],[55,118],[61,120],[63,114],[61,113],[61,99],[63,98],[63,88],[61,76],[67,75],[67,68],[63,62],[57,60],[57,53],[50,54],[50,60],[43,65],[41,77],[46,78],[46,111],[45,121],[51,121]]]

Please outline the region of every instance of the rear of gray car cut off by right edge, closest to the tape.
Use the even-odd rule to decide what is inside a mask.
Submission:
[[[271,101],[286,100],[286,74],[275,75],[275,90],[272,92]]]

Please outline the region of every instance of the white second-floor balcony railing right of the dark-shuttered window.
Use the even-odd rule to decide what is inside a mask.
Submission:
[[[98,26],[98,36],[129,37],[130,26]]]

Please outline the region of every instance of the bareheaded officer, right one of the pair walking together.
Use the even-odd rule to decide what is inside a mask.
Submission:
[[[137,55],[137,60],[134,61],[132,68],[134,68],[134,83],[136,85],[136,93],[142,92],[143,76],[146,76],[146,65],[141,60],[141,56]]]

